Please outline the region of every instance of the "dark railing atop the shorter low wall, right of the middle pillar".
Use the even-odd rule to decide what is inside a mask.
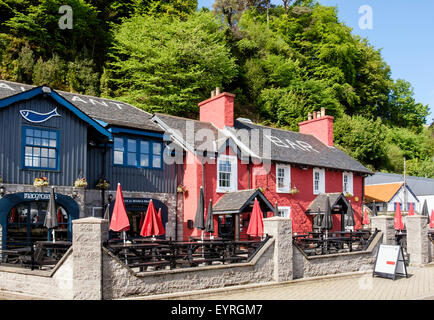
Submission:
[[[293,236],[293,243],[307,256],[366,250],[377,234],[369,230],[308,232]]]

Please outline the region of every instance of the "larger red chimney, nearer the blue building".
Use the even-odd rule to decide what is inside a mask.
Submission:
[[[234,98],[228,92],[220,93],[220,88],[212,91],[211,98],[199,103],[200,121],[212,122],[217,128],[234,126]]]

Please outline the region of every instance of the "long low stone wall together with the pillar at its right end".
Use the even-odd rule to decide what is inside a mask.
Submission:
[[[291,220],[279,217],[264,219],[264,233],[272,238],[250,262],[231,265],[135,273],[108,250],[104,250],[103,298],[116,299],[291,280]]]

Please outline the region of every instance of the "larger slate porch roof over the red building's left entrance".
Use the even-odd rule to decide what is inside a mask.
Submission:
[[[243,212],[247,206],[253,205],[255,198],[258,198],[263,213],[274,210],[274,207],[260,190],[247,189],[225,193],[213,206],[213,214]]]

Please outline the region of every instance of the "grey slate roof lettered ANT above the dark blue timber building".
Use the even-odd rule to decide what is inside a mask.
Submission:
[[[30,90],[35,86],[0,80],[0,100]],[[89,117],[109,125],[163,132],[152,120],[152,115],[128,103],[83,94],[58,91],[60,96],[72,103]]]

